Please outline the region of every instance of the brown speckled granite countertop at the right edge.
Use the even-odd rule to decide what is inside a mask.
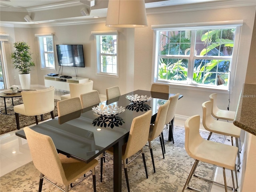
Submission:
[[[244,84],[233,123],[256,135],[256,84]]]

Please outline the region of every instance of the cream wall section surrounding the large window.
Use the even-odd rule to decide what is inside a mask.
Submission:
[[[230,110],[235,111],[239,94],[246,76],[254,15],[255,6],[148,15],[148,27],[135,29],[134,89],[149,90],[151,86],[153,54],[153,30],[151,29],[151,25],[244,20],[240,39],[235,82],[230,96]],[[184,98],[178,102],[176,114],[184,116],[199,114],[201,118],[202,103],[209,100],[209,95],[212,92],[216,92],[216,90],[208,90],[207,92],[205,89],[195,90],[193,88],[188,89],[184,86],[174,85],[170,86],[170,90],[173,93],[179,92],[180,94],[184,95]],[[228,106],[228,92],[226,91],[225,93],[218,93],[218,99],[220,100],[219,107],[226,109]]]

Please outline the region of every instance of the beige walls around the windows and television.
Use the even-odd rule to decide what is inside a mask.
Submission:
[[[90,78],[94,81],[94,89],[100,94],[106,94],[106,88],[110,86],[120,86],[121,93],[129,92],[136,89],[150,90],[152,82],[152,53],[153,53],[153,30],[151,25],[155,24],[172,24],[172,23],[189,23],[189,22],[207,22],[222,20],[244,20],[240,47],[238,53],[238,65],[236,70],[235,82],[230,99],[230,110],[236,110],[240,91],[245,78],[251,78],[255,74],[250,72],[246,76],[248,56],[250,50],[250,41],[252,38],[252,28],[255,17],[255,6],[244,6],[235,8],[221,8],[200,11],[184,11],[167,14],[148,14],[148,27],[145,28],[109,28],[105,23],[81,24],[70,26],[54,26],[43,28],[11,28],[1,27],[1,33],[10,34],[9,49],[12,50],[12,43],[18,40],[25,40],[32,48],[36,68],[31,72],[32,84],[44,85],[43,76],[48,73],[58,73],[57,70],[41,70],[39,64],[38,42],[34,34],[54,33],[54,44],[83,44],[85,53],[85,68],[76,68],[79,77]],[[119,31],[119,78],[102,77],[96,75],[96,59],[94,36],[91,31],[100,30],[118,30]],[[8,57],[8,56],[7,56]],[[8,63],[8,70],[12,76],[18,76]],[[64,67],[62,74],[75,76],[74,68]],[[11,79],[10,84],[19,84],[18,77],[16,80]],[[180,92],[184,98],[178,102],[176,114],[192,116],[199,114],[202,116],[202,103],[209,99],[212,92],[216,90],[193,89],[184,86],[170,86],[173,93]],[[226,109],[228,105],[228,92],[218,92],[219,107]],[[222,101],[221,101],[222,100]]]

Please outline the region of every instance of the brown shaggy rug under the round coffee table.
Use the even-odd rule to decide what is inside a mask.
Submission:
[[[18,104],[22,104],[22,98],[18,97],[18,98],[13,98],[14,101],[14,105],[18,105]],[[54,109],[54,116],[58,116],[58,111],[57,111],[57,101],[58,100],[54,100],[54,105],[55,105],[55,109]],[[15,119],[15,115],[14,115],[14,111],[13,111],[13,107],[12,106],[12,100],[10,98],[6,99],[6,106],[7,108],[7,114],[11,114],[12,115],[5,115],[5,114],[0,114],[0,134],[4,134],[13,130],[17,130],[17,126],[16,126],[16,119]],[[4,109],[4,99],[1,98],[0,99],[0,108],[3,110],[1,110],[2,113],[5,112]],[[25,115],[19,115],[20,117],[20,128],[23,128],[25,126],[29,126],[32,124],[36,123],[35,117],[34,116],[25,116]],[[41,117],[38,116],[38,122],[41,121]],[[50,113],[44,114],[44,120],[46,119],[50,119],[52,118]]]

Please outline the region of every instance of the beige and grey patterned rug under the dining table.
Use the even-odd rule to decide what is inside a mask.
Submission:
[[[207,132],[200,133],[202,137],[207,138]],[[147,146],[145,149],[146,164],[148,168],[148,179],[145,175],[142,158],[139,156],[127,166],[128,178],[131,192],[181,192],[186,182],[188,174],[194,163],[184,148],[184,128],[176,126],[174,128],[174,141],[165,142],[166,154],[162,158],[160,142],[153,145],[154,161],[156,173],[153,172],[150,151]],[[168,129],[164,130],[164,138],[168,138]],[[222,142],[223,136],[212,134],[211,140]],[[97,158],[99,160],[99,158]],[[99,161],[100,162],[100,161]],[[212,178],[214,176],[215,166],[200,162],[196,171],[200,176]],[[0,178],[1,192],[36,192],[38,191],[40,173],[30,162]],[[204,180],[192,177],[190,182],[192,186],[208,192],[210,184]],[[103,165],[103,182],[100,182],[100,164],[96,166],[96,190],[97,192],[113,191],[113,162],[107,160]],[[44,180],[44,192],[60,192],[52,184]],[[74,192],[92,192],[92,177],[76,186]],[[122,170],[122,191],[126,192],[126,180]],[[185,191],[190,191],[186,189]]]

